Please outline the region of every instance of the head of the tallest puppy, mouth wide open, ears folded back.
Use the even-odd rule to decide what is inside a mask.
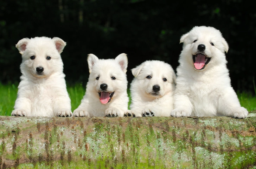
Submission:
[[[213,27],[196,26],[181,36],[183,50],[180,64],[189,64],[196,71],[204,71],[218,64],[226,64],[225,52],[229,46],[219,30]]]

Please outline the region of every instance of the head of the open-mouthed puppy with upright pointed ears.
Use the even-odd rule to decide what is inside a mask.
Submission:
[[[127,91],[126,54],[120,54],[115,59],[98,59],[94,54],[89,54],[87,61],[90,73],[88,89],[99,97],[102,104]]]

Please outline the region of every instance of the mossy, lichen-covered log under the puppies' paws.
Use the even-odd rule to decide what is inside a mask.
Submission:
[[[0,168],[255,168],[256,111],[230,117],[0,117]]]

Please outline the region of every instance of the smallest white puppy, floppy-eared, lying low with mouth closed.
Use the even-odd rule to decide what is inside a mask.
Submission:
[[[176,83],[172,66],[162,61],[145,61],[132,73],[132,103],[125,116],[170,116]]]

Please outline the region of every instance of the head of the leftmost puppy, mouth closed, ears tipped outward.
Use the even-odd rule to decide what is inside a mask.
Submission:
[[[63,72],[60,53],[66,42],[58,37],[23,38],[16,48],[22,55],[21,73],[30,77],[48,77],[55,72]]]

